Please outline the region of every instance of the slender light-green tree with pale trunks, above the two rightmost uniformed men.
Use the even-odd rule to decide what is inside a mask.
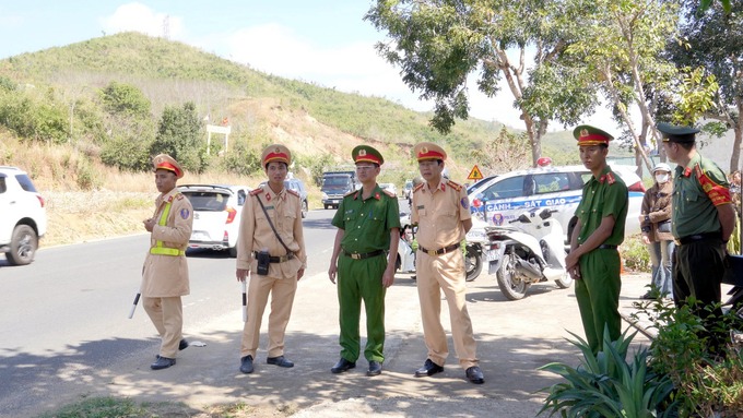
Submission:
[[[583,17],[580,38],[567,49],[592,74],[634,144],[637,165],[645,163],[648,170],[648,139],[660,144],[654,128],[659,103],[679,81],[675,67],[661,57],[676,22],[672,2],[597,0],[592,14]],[[639,127],[630,116],[633,106],[639,110]]]

